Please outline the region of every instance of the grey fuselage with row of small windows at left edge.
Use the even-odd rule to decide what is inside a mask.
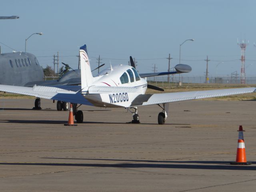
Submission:
[[[33,54],[13,52],[0,54],[0,84],[24,86],[28,82],[43,81],[42,67]]]

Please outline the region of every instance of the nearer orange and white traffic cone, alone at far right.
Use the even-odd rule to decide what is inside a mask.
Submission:
[[[239,126],[239,133],[238,133],[238,145],[237,145],[237,152],[236,152],[236,162],[230,162],[231,165],[250,165],[252,162],[246,161],[246,153],[245,153],[245,146],[244,146],[244,134],[243,134],[243,127],[242,125]]]

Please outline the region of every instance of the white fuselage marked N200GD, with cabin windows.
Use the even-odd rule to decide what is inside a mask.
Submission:
[[[97,94],[94,87],[98,86],[113,87],[113,92]],[[122,89],[122,87],[126,89]],[[147,81],[140,78],[135,68],[119,65],[103,70],[94,77],[94,82],[88,88],[88,93],[95,92],[95,94],[84,92],[83,96],[98,107],[128,107],[134,98],[145,94],[146,89]]]

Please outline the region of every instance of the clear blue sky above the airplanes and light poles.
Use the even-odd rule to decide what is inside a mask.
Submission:
[[[204,75],[206,55],[210,75],[240,73],[237,38],[250,40],[246,48],[246,75],[256,75],[255,0],[12,0],[1,1],[0,42],[17,51],[35,54],[43,67],[53,66],[59,51],[60,62],[77,68],[79,47],[86,44],[90,63],[104,58],[106,66],[128,64],[132,55],[140,73],[167,71],[182,62],[192,66],[191,74]],[[2,52],[12,52],[3,46]],[[223,62],[223,63],[222,63]],[[219,64],[219,65],[218,65]],[[218,65],[218,68],[216,66]]]

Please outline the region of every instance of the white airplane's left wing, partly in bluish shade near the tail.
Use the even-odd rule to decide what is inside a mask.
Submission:
[[[33,87],[21,87],[21,86],[10,86],[0,85],[0,91],[24,94],[30,96],[36,96],[38,98],[46,98],[52,100],[61,100],[71,103],[90,105],[92,104],[86,100],[81,92],[81,86],[36,86]]]

